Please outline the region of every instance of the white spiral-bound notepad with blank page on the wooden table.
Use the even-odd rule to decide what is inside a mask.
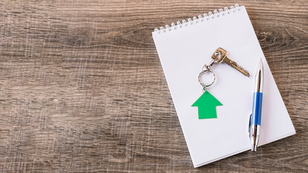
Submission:
[[[194,167],[251,149],[248,123],[260,58],[264,87],[258,147],[295,134],[245,6],[236,4],[172,23],[154,29],[152,35]],[[218,47],[251,76],[223,62],[213,64],[216,80],[207,91],[222,105],[216,106],[216,118],[199,119],[198,108],[192,107],[203,93],[198,75]]]

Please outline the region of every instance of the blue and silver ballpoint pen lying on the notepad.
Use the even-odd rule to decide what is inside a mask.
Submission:
[[[263,63],[260,59],[255,75],[255,86],[253,93],[252,114],[250,119],[250,142],[251,151],[257,151],[260,138],[262,95],[263,95]]]

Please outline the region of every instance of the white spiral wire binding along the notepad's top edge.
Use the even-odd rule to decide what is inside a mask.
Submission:
[[[238,4],[235,4],[234,6],[231,5],[230,9],[228,7],[224,7],[223,9],[219,8],[218,11],[217,10],[214,10],[213,12],[210,11],[208,12],[208,14],[204,13],[203,16],[198,15],[198,18],[194,16],[192,20],[188,18],[187,22],[185,20],[182,20],[182,23],[180,21],[178,21],[177,24],[172,23],[171,27],[169,25],[165,25],[165,27],[160,27],[159,29],[156,28],[154,29],[154,32],[162,33],[166,31],[171,31],[171,30],[187,27],[188,25],[194,25],[199,22],[204,22],[207,20],[214,19],[216,17],[220,17],[221,15],[224,16],[226,14],[230,14],[230,12],[236,12],[236,8],[240,10]]]

